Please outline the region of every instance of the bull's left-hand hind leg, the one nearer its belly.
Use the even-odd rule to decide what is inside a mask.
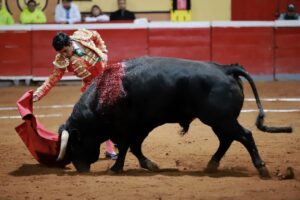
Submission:
[[[231,143],[233,142],[233,139],[229,134],[224,135],[224,132],[222,132],[218,128],[213,128],[213,130],[218,136],[220,144],[218,150],[212,156],[205,169],[205,171],[209,173],[217,171],[220,165],[220,160],[223,158]]]

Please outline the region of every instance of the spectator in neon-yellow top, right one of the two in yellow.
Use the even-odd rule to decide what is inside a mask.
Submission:
[[[36,23],[46,23],[47,18],[43,11],[37,8],[37,3],[35,0],[29,0],[27,2],[27,8],[21,13],[20,21],[22,24],[36,24]]]

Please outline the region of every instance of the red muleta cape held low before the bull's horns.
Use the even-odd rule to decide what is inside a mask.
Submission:
[[[60,149],[60,137],[47,131],[33,114],[33,90],[26,92],[18,101],[19,113],[24,120],[15,129],[32,156],[41,164],[50,167],[64,167],[66,159],[56,161]]]

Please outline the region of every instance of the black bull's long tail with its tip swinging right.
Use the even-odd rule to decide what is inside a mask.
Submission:
[[[238,78],[239,76],[244,77],[249,83],[252,88],[253,94],[255,96],[256,100],[256,105],[259,109],[258,116],[256,118],[256,127],[264,132],[269,132],[269,133],[291,133],[292,127],[269,127],[264,125],[264,117],[265,117],[265,112],[263,109],[263,106],[261,104],[261,101],[258,96],[258,92],[255,86],[255,83],[251,76],[248,74],[248,72],[241,66],[232,66],[226,69],[226,74],[228,75],[233,75],[234,77]]]

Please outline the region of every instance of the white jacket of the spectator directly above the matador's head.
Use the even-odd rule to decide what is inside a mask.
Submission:
[[[69,9],[69,19],[67,19],[67,10],[62,6],[61,3],[57,4],[55,8],[55,22],[67,22],[68,24],[81,22],[81,15],[78,7],[74,3],[71,3],[71,8]]]

